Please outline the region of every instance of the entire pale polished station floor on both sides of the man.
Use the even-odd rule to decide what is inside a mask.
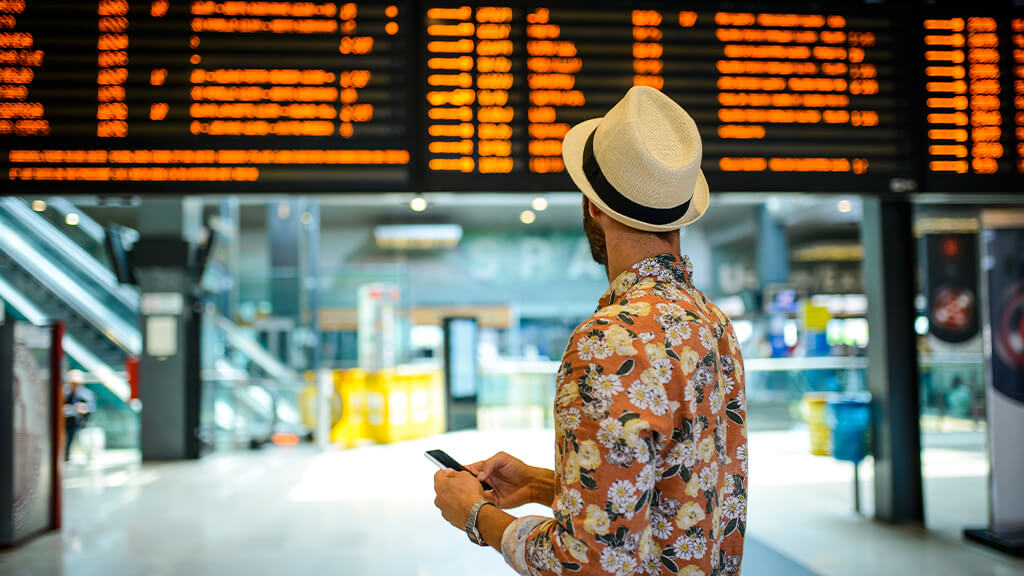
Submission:
[[[70,467],[65,530],[0,552],[0,574],[511,574],[440,519],[422,453],[443,448],[471,461],[502,449],[540,465],[551,446],[550,431],[506,430],[163,464],[108,454]],[[751,452],[744,576],[1024,574],[1024,563],[958,537],[958,523],[984,517],[986,468],[974,448],[926,453],[926,488],[943,498],[929,530],[852,513],[849,464],[808,456],[806,433],[752,434]]]

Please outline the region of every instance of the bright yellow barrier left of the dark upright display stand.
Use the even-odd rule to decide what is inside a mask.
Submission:
[[[335,373],[342,398],[342,417],[331,441],[354,446],[369,440],[381,444],[444,431],[444,390],[438,370],[398,368],[366,374]]]

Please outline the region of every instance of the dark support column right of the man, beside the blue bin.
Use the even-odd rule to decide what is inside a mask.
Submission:
[[[865,198],[863,207],[874,518],[892,524],[924,524],[920,383],[913,331],[918,268],[911,206],[905,201]]]

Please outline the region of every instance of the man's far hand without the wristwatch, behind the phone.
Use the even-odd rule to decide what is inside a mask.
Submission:
[[[551,505],[554,499],[554,488],[550,486],[553,472],[526,465],[505,452],[499,452],[482,462],[469,464],[466,468],[476,475],[480,482],[486,482],[494,488],[484,492],[483,497],[500,508],[515,508],[530,502]],[[545,482],[547,477],[551,478]],[[546,498],[548,493],[552,493],[550,499]]]

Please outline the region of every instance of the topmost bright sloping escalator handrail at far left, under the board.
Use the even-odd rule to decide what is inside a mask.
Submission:
[[[62,231],[50,223],[46,218],[37,214],[24,200],[4,198],[0,200],[0,205],[13,217],[17,218],[23,225],[31,230],[38,240],[49,243],[55,252],[67,254],[67,260],[75,265],[79,272],[113,294],[128,310],[138,310],[138,292],[118,283],[117,277],[110,269],[99,263],[92,254],[82,249],[78,243],[68,238]],[[80,221],[82,221],[82,215],[79,216]],[[95,221],[89,221],[93,225],[99,225]],[[90,234],[89,236],[91,237],[92,235]]]

